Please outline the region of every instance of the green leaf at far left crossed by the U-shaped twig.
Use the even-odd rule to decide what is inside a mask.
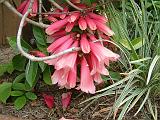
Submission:
[[[17,48],[17,37],[7,37],[8,43],[11,46],[11,48],[18,53],[18,48]],[[23,39],[21,40],[21,44],[23,49],[28,52],[28,50],[32,49],[32,47]]]

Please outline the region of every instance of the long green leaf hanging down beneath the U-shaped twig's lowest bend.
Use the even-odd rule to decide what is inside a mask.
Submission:
[[[26,80],[30,87],[33,87],[38,71],[38,62],[29,61],[26,67]]]

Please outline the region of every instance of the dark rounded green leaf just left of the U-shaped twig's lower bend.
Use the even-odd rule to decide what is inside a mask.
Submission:
[[[21,56],[21,54],[14,56],[12,59],[14,69],[24,71],[26,60],[27,59],[24,56]]]

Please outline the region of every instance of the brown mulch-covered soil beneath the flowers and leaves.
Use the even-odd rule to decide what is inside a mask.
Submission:
[[[14,53],[10,48],[0,48],[0,64],[11,60],[13,55]],[[0,82],[12,81],[14,77],[14,75],[6,74],[0,77]],[[74,120],[105,120],[115,100],[114,96],[105,96],[99,100],[96,100],[91,105],[89,105],[91,102],[80,104],[82,101],[91,97],[91,95],[70,90],[72,92],[71,105],[66,111],[64,111],[61,105],[61,95],[63,92],[67,92],[68,90],[60,90],[56,85],[49,87],[39,81],[35,91],[38,95],[38,99],[36,101],[28,102],[22,110],[15,110],[12,103],[7,103],[6,105],[0,103],[0,120],[59,120],[61,117]],[[53,109],[48,109],[46,107],[43,101],[42,93],[54,96],[55,105]],[[134,110],[131,111],[126,115],[124,120],[149,120],[145,118],[143,114],[133,117],[134,113]],[[110,120],[113,120],[113,118],[110,118]]]

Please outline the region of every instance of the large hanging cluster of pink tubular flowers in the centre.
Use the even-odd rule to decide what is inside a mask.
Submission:
[[[28,4],[27,1],[29,0],[22,4]],[[72,2],[82,9],[87,8],[79,0]],[[33,5],[34,13],[37,12],[36,7]],[[20,7],[18,10],[23,13],[25,9],[26,7],[24,9]],[[63,11],[55,10],[63,14],[47,16],[52,24],[45,31],[53,39],[47,50],[51,54],[56,54],[72,47],[80,47],[81,51],[65,54],[45,63],[55,68],[51,76],[53,84],[58,83],[61,88],[68,89],[76,87],[83,92],[94,94],[95,83],[103,82],[101,75],[109,75],[106,67],[110,61],[119,58],[118,54],[104,47],[103,42],[96,40],[99,37],[109,38],[114,32],[106,26],[108,19],[95,14],[93,9],[86,9],[83,12],[69,11],[69,7],[64,5]]]

